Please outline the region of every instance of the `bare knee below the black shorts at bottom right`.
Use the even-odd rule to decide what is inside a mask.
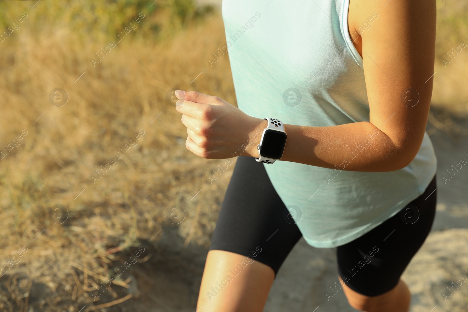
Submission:
[[[338,276],[340,285],[344,284],[341,276]],[[408,312],[411,302],[411,294],[408,286],[400,280],[394,289],[376,297],[368,297],[351,290],[344,284],[343,290],[349,304],[356,310],[366,312]]]

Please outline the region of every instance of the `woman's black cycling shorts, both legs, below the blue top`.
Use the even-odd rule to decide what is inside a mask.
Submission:
[[[302,234],[291,219],[288,222],[285,218],[289,211],[263,166],[268,165],[253,157],[237,158],[211,249],[249,256],[270,266],[276,277]],[[366,296],[377,296],[396,286],[431,231],[437,201],[435,189],[434,176],[424,194],[395,216],[358,239],[336,247],[338,273],[347,286]],[[281,235],[274,235],[277,231]]]

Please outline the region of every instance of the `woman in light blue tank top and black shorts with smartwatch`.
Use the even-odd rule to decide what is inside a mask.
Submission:
[[[408,311],[400,276],[436,206],[437,160],[425,132],[436,7],[224,0],[222,14],[239,109],[177,92],[187,148],[207,159],[240,156],[197,311],[263,311],[301,236],[336,247],[352,307]]]

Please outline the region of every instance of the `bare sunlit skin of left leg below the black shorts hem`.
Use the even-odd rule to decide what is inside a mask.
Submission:
[[[262,312],[274,277],[271,267],[252,258],[210,250],[197,312]]]

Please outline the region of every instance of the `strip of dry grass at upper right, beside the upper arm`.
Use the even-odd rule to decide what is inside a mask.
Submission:
[[[454,135],[466,135],[468,2],[441,0],[437,1],[437,7],[436,60],[428,133],[431,135],[442,128]],[[466,47],[462,48],[463,45]]]

